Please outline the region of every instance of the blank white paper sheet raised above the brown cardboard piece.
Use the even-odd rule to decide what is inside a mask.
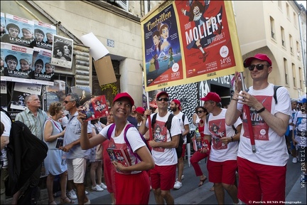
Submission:
[[[85,44],[85,46],[90,47],[90,54],[95,61],[109,53],[107,48],[104,47],[94,33],[87,33],[84,36],[81,36],[80,40],[83,44]]]

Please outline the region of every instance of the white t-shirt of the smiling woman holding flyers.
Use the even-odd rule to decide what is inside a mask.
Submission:
[[[128,125],[129,122],[126,123],[126,125]],[[107,131],[109,130],[109,127],[111,126],[107,125],[106,127],[104,127],[99,134],[102,135],[103,137],[107,138]],[[116,125],[114,127],[114,130],[111,134],[111,138],[109,141],[109,147],[113,147],[113,145],[117,148],[122,148],[122,149],[127,149],[129,157],[131,159],[131,165],[136,164],[136,157],[134,156],[134,154],[131,153],[131,151],[129,150],[129,146],[126,145],[126,142],[124,140],[124,130],[126,128],[126,125],[124,127],[124,129],[122,130],[121,134],[117,137],[114,137],[115,135],[115,129],[116,129]],[[137,149],[146,146],[146,144],[143,142],[143,140],[141,139],[141,137],[136,137],[139,136],[139,131],[136,129],[136,127],[130,127],[127,132],[126,132],[126,139],[129,141],[132,152],[136,152]],[[139,163],[139,159],[138,159],[138,163]],[[133,171],[131,172],[131,174],[137,174],[141,171]]]

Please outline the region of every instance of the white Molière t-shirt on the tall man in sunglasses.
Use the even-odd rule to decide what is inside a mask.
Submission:
[[[277,104],[275,105],[274,85],[269,83],[269,86],[262,90],[254,90],[249,88],[249,94],[257,98],[266,110],[275,115],[277,112],[291,116],[291,101],[288,90],[281,87],[276,91]],[[274,130],[269,127],[262,117],[251,109],[252,127],[254,131],[256,153],[252,153],[252,145],[249,140],[249,131],[247,126],[247,117],[243,110],[242,104],[237,104],[237,110],[243,112],[243,126],[240,135],[238,156],[258,164],[266,164],[271,166],[284,166],[289,159],[288,150],[286,147],[286,138],[277,135]]]

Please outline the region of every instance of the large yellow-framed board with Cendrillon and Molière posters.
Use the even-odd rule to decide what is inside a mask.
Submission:
[[[164,1],[141,30],[146,91],[243,71],[231,1]]]

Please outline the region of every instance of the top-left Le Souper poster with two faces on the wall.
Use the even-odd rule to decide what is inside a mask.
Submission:
[[[1,42],[30,47],[34,40],[34,22],[11,14],[5,16],[7,34],[1,37]]]

